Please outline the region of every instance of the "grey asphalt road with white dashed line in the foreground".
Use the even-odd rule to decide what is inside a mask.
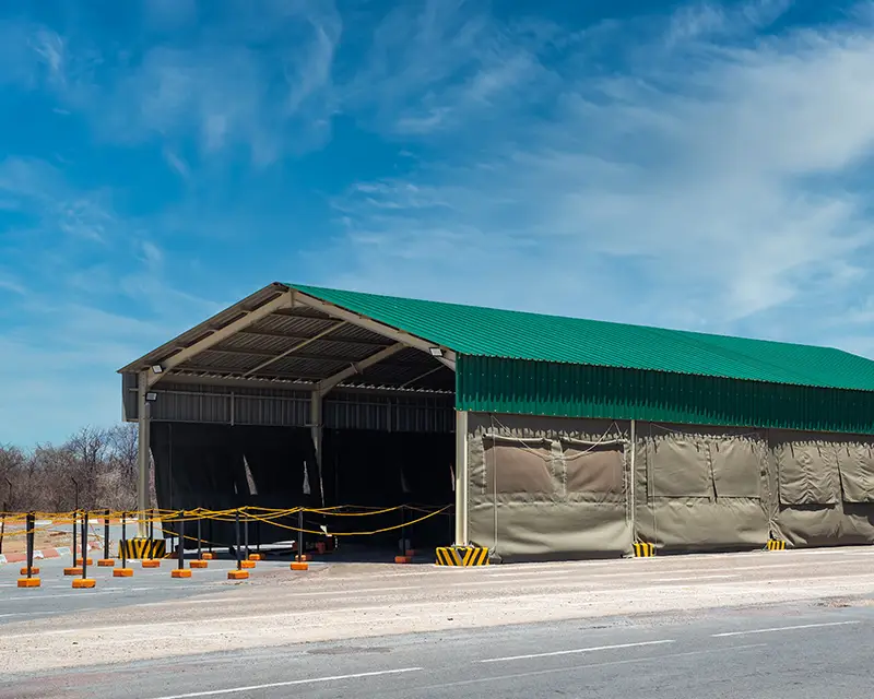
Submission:
[[[87,668],[7,676],[0,697],[867,698],[874,606],[842,604],[565,620],[105,666],[95,656]]]

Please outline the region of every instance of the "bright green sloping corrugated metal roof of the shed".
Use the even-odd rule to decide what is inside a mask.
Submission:
[[[874,362],[830,347],[291,286],[459,354],[874,391]]]

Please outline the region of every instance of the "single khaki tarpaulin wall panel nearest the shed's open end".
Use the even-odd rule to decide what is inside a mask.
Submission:
[[[630,548],[628,424],[471,414],[470,538],[504,559]]]

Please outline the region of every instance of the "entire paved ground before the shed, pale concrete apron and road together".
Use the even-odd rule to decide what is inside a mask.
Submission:
[[[269,562],[236,584],[229,561],[190,581],[170,566],[131,580],[95,570],[94,591],[48,565],[46,589],[19,591],[17,571],[0,570],[0,697],[871,696],[867,547],[480,569]]]

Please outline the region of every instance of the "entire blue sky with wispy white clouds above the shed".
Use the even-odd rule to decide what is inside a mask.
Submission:
[[[874,355],[872,85],[869,3],[4,2],[0,442],[271,281]]]

